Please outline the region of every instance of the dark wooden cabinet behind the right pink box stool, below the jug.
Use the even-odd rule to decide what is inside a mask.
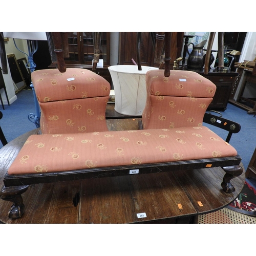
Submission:
[[[215,96],[207,110],[224,111],[227,108],[227,103],[232,89],[236,86],[238,73],[236,72],[209,72],[207,75],[204,72],[197,72],[200,75],[212,81],[217,89]]]

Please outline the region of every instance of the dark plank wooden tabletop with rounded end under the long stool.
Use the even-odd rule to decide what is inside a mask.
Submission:
[[[109,130],[138,130],[140,119],[109,119]],[[4,173],[33,130],[0,150],[0,187]],[[25,214],[11,220],[11,202],[0,200],[3,223],[191,223],[228,205],[244,185],[244,173],[232,179],[236,191],[221,188],[221,168],[35,184],[23,194]],[[145,214],[138,218],[137,214]]]

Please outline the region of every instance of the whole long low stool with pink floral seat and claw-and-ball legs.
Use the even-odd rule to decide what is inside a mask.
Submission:
[[[0,196],[24,213],[30,184],[221,166],[222,188],[242,174],[237,151],[205,126],[30,136],[4,177]],[[231,167],[225,167],[231,166]]]

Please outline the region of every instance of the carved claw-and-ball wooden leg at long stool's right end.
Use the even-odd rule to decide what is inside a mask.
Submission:
[[[235,190],[235,188],[230,183],[230,180],[240,176],[243,173],[243,168],[240,165],[233,165],[222,167],[222,169],[226,174],[223,177],[221,186],[226,193],[232,193]]]

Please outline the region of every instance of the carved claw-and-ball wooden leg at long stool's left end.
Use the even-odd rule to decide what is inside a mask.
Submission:
[[[27,191],[28,187],[29,186],[4,186],[0,191],[1,199],[13,202],[13,205],[8,212],[9,218],[17,219],[24,214],[25,205],[23,204],[22,194]]]

